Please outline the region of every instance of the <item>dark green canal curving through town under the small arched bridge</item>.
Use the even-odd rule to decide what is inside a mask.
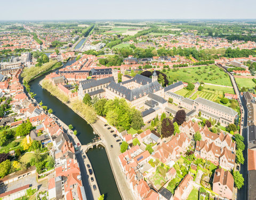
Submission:
[[[64,67],[71,65],[75,62],[75,59],[70,59],[68,62],[63,63]],[[48,91],[42,89],[39,82],[45,77],[39,77],[29,83],[31,92],[36,94],[35,99],[37,102],[43,102],[44,106],[48,109],[53,109],[53,114],[57,116],[62,122],[69,125],[72,124],[74,129],[77,130],[77,137],[81,141],[82,145],[89,143],[95,137],[92,127],[86,123],[86,121],[77,115],[68,106],[62,103],[59,99],[52,96]],[[122,199],[116,186],[115,178],[111,170],[107,153],[105,148],[98,147],[87,151],[95,177],[98,182],[98,186],[101,194],[105,194],[105,199]],[[86,186],[85,186],[86,187]],[[87,186],[89,187],[89,186]],[[88,199],[89,200],[89,199]]]

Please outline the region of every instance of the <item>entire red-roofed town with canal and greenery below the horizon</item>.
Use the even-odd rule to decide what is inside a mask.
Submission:
[[[255,199],[256,22],[0,22],[0,199]]]

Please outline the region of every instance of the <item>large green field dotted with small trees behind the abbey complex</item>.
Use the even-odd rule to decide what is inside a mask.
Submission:
[[[232,86],[229,76],[219,67],[215,65],[200,66],[191,68],[174,68],[166,70],[170,82],[183,81],[188,83],[204,82],[217,85]]]

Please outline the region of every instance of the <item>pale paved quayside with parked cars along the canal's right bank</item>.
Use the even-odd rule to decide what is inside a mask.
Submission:
[[[41,84],[41,82],[39,82],[39,84]],[[55,98],[59,99],[58,97],[55,97]],[[61,101],[61,99],[59,100]],[[73,108],[71,107],[71,102],[69,103],[65,103],[63,101],[61,102],[73,110]],[[75,110],[73,111],[86,121],[86,119],[79,112]],[[119,165],[119,162],[118,162],[118,155],[120,154],[119,144],[116,142],[114,137],[112,137],[110,131],[106,129],[106,127],[104,126],[105,122],[103,122],[101,119],[98,118],[95,123],[93,124],[88,123],[88,124],[90,124],[91,127],[93,127],[93,129],[96,131],[97,134],[100,135],[102,139],[102,142],[106,149],[111,170],[114,174],[114,178],[116,181],[119,194],[121,194],[122,199],[133,200],[134,197],[131,193],[131,189],[125,179],[124,173],[122,172],[121,166]],[[110,148],[111,145],[113,145],[113,148]]]

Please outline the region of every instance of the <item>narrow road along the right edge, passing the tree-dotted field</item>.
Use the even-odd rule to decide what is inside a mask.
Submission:
[[[248,133],[247,133],[247,107],[246,107],[246,103],[243,100],[243,97],[239,93],[238,86],[236,84],[234,76],[231,75],[230,73],[228,73],[228,75],[231,79],[231,82],[232,82],[232,85],[234,87],[235,93],[237,94],[237,97],[238,97],[239,101],[241,102],[242,110],[243,110],[243,113],[241,113],[241,117],[244,117],[244,123],[243,123],[243,125],[241,125],[241,129],[242,129],[242,135],[244,137],[245,149],[243,151],[244,164],[243,165],[241,164],[241,166],[240,166],[240,173],[243,175],[243,178],[244,178],[244,186],[241,189],[238,190],[237,199],[238,200],[246,200],[247,199],[247,148],[248,148],[248,144],[247,144],[247,137],[248,137]]]

